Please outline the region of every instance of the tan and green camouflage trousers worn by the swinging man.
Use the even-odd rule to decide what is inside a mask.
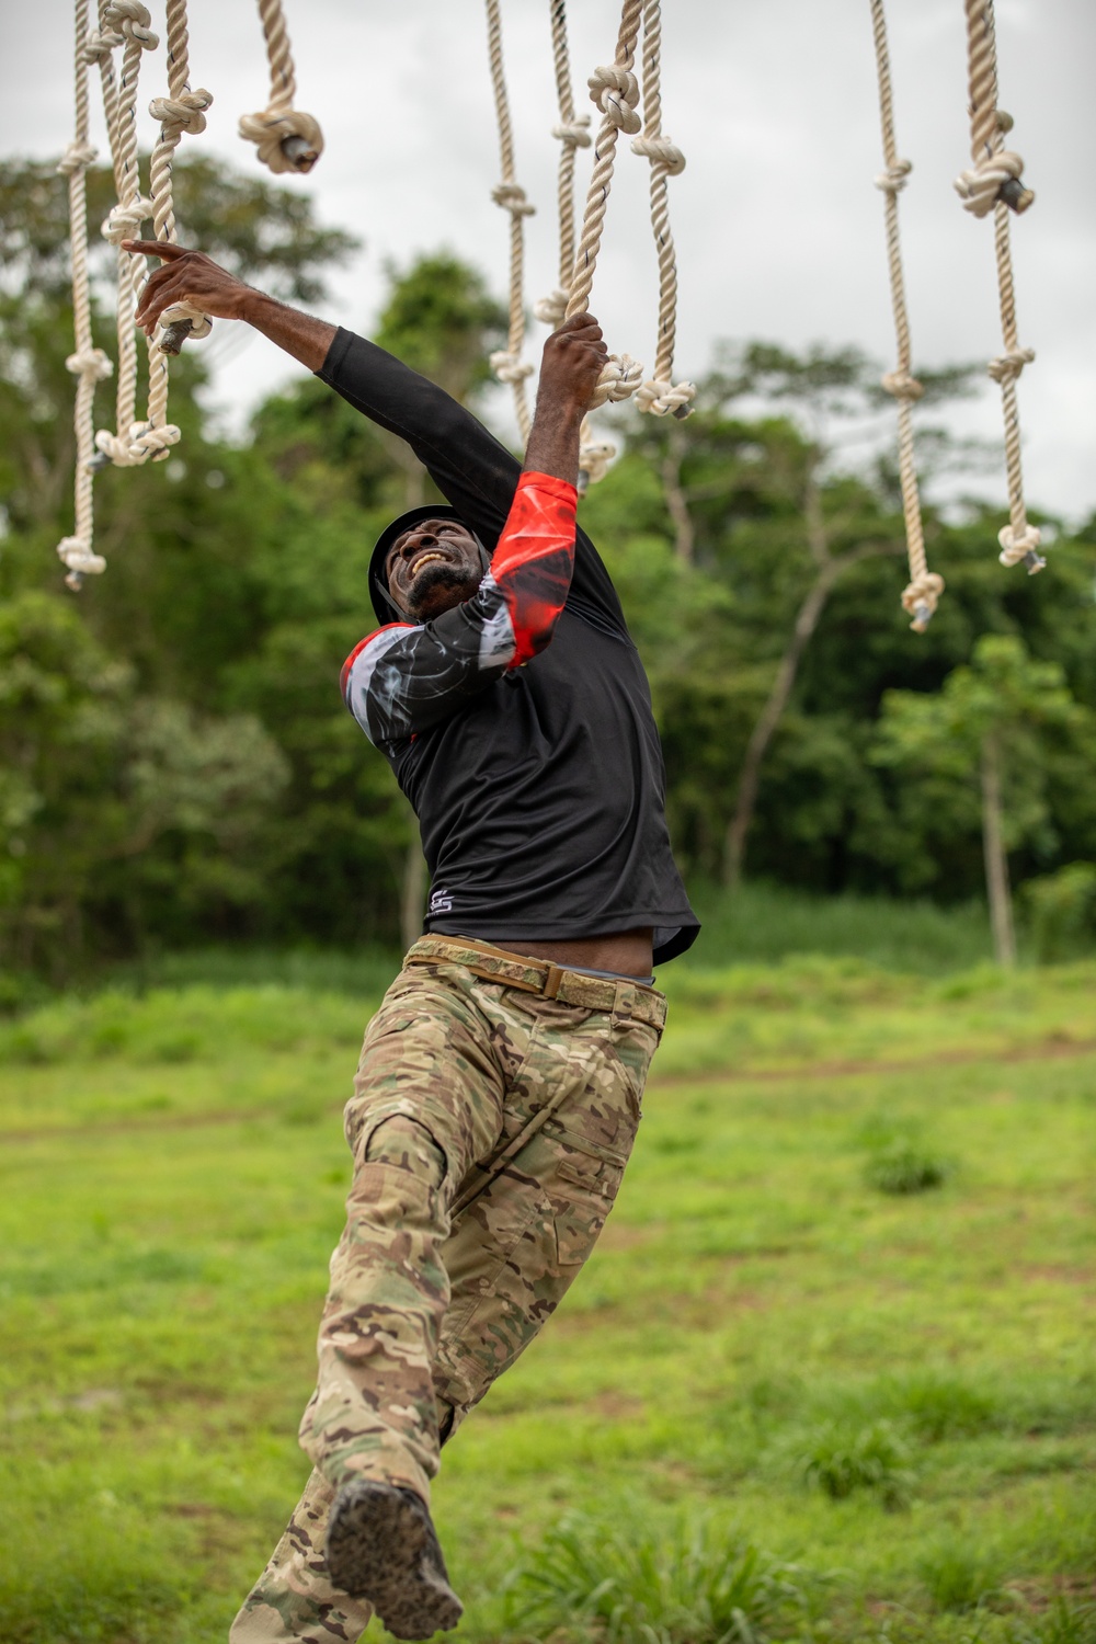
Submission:
[[[355,1174],[330,1263],[314,1463],[232,1644],[357,1639],[327,1512],[353,1473],[429,1501],[439,1447],[532,1342],[619,1187],[665,1021],[652,988],[416,942],[370,1023],[347,1105]]]

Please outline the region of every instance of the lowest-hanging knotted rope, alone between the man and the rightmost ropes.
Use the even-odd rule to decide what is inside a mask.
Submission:
[[[899,159],[894,136],[891,59],[882,0],[871,0],[871,26],[876,39],[876,67],[879,71],[879,118],[882,125],[882,163],[886,168],[876,178],[876,187],[882,189],[886,202],[891,306],[894,309],[894,332],[899,353],[897,365],[882,378],[882,386],[889,395],[894,395],[899,408],[899,477],[902,483],[902,513],[905,515],[905,547],[910,564],[910,580],[902,593],[902,605],[912,616],[910,628],[914,633],[923,633],[943,593],[943,577],[928,569],[925,557],[925,531],[920,518],[917,465],[914,462],[914,404],[925,390],[910,372],[910,326],[905,312],[905,279],[902,276],[902,247],[899,242],[899,194],[905,187],[905,181],[914,168],[909,159]]]

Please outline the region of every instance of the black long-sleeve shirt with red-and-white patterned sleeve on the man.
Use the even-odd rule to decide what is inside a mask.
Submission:
[[[656,963],[674,958],[698,921],[651,692],[573,487],[523,477],[463,406],[352,332],[319,375],[408,441],[493,551],[472,600],[381,628],[343,667],[347,705],[419,817],[426,929],[504,945],[651,926]]]

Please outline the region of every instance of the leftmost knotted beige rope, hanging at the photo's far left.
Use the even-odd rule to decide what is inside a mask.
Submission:
[[[97,575],[107,567],[107,561],[92,551],[95,516],[89,462],[95,452],[95,383],[104,381],[113,370],[104,350],[92,347],[92,304],[87,273],[87,168],[95,159],[95,150],[87,138],[87,0],[76,0],[76,132],[58,166],[58,171],[69,179],[76,329],[76,353],[71,353],[64,362],[76,376],[76,524],[72,536],[64,536],[58,543],[58,554],[67,567],[64,580],[71,589],[79,589],[85,575]]]

